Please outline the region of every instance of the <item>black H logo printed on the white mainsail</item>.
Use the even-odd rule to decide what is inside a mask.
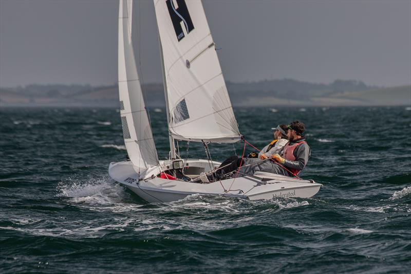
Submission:
[[[177,6],[174,2],[177,3]],[[190,33],[190,31],[194,29],[189,9],[185,4],[185,0],[166,0],[165,3],[167,5],[167,9],[169,9],[177,40],[180,42],[180,40],[185,36],[183,26],[186,34]]]

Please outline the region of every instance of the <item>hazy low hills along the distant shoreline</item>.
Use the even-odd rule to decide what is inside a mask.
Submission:
[[[251,83],[227,82],[234,107],[411,106],[411,85],[367,86],[356,80],[331,84],[293,79]],[[148,107],[164,107],[163,85],[145,84]],[[118,87],[90,85],[28,85],[0,88],[0,107],[119,107]]]

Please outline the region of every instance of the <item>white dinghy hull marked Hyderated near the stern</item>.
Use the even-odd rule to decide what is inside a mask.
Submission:
[[[168,170],[170,167],[167,161],[160,161],[160,165],[162,170]],[[218,166],[219,163],[213,162],[213,165]],[[188,160],[187,166],[196,171],[210,171],[206,160]],[[205,184],[162,179],[157,177],[160,172],[161,170],[155,167],[149,173],[145,172],[144,180],[140,179],[130,161],[110,163],[108,169],[111,178],[150,203],[174,202],[192,194],[224,195],[251,200],[276,197],[307,198],[315,195],[322,186],[312,181],[267,172],[256,172],[254,177],[230,178]]]

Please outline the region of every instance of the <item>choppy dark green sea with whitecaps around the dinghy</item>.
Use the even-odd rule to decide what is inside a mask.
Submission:
[[[150,108],[160,159],[164,108]],[[0,273],[410,273],[411,108],[234,108],[257,148],[300,120],[311,198],[149,204],[108,176],[119,109],[0,108]],[[202,144],[180,155],[204,158]],[[213,160],[243,143],[210,144]],[[246,153],[252,152],[251,147]]]

